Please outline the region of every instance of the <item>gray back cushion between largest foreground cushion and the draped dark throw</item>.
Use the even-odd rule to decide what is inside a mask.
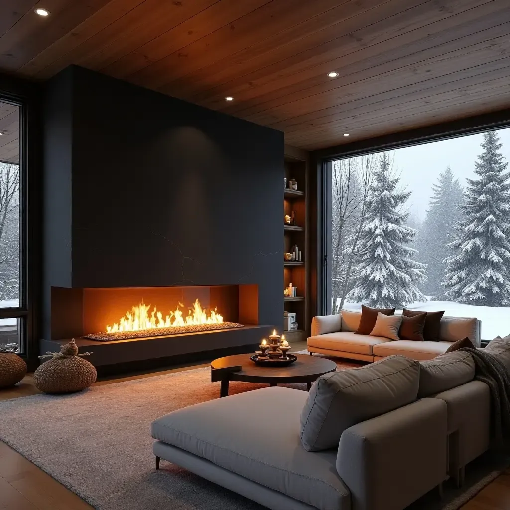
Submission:
[[[466,351],[448,352],[437,358],[420,362],[418,398],[451,390],[473,380],[475,362]]]

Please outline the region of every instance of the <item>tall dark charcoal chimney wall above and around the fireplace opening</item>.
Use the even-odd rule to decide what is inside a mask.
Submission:
[[[72,66],[46,84],[50,287],[259,286],[283,321],[284,137]]]

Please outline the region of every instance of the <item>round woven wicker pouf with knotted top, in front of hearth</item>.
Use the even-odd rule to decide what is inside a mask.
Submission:
[[[34,372],[34,384],[44,393],[74,393],[92,386],[96,380],[97,371],[88,361],[78,354],[78,346],[74,339],[60,348],[60,352],[49,352],[50,359],[40,365]]]

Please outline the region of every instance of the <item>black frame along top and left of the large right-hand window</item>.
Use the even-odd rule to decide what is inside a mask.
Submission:
[[[385,150],[440,142],[476,135],[485,131],[510,128],[510,109],[458,119],[419,129],[359,142],[337,145],[313,153],[317,171],[317,315],[331,314],[330,264],[323,264],[331,249],[331,162]],[[482,340],[482,344],[487,340]]]

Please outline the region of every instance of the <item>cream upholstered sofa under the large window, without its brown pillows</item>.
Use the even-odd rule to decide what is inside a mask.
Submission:
[[[480,346],[480,321],[476,318],[443,317],[440,341],[390,340],[385,337],[356,335],[361,312],[342,310],[340,314],[312,319],[312,335],[308,338],[310,353],[329,354],[352,360],[377,361],[392,354],[403,354],[415,360],[430,360],[464,337]]]

